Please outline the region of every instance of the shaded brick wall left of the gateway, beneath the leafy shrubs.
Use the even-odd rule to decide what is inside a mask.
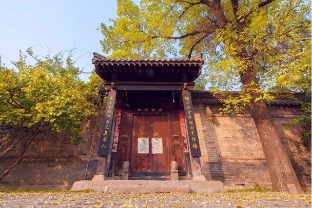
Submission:
[[[68,143],[67,138],[53,135],[39,135],[23,159],[0,181],[0,186],[69,186],[75,181],[83,180],[90,147],[95,132],[95,140],[91,152],[90,163],[86,175],[91,180],[98,164],[98,137],[100,135],[101,118],[89,118],[83,126],[83,141],[78,145]],[[18,152],[11,151],[0,160],[0,171],[17,160]]]

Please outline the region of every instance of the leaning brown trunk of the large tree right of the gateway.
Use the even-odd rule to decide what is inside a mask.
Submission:
[[[219,3],[220,1],[213,0],[212,2],[213,5],[210,7],[215,12],[221,27],[224,28],[228,21],[223,14],[223,9]],[[244,31],[245,21],[241,21],[237,16],[237,11],[239,9],[238,0],[231,0],[231,2],[237,24],[237,34],[240,34]],[[209,6],[209,4],[207,5]],[[232,39],[232,42],[236,42],[236,40]],[[246,64],[250,64],[247,67],[247,70],[240,72],[240,78],[244,90],[247,93],[250,93],[253,98],[250,110],[252,116],[254,117],[254,123],[257,127],[263,151],[267,159],[273,189],[277,191],[301,193],[303,190],[292,168],[292,164],[277,133],[275,125],[270,118],[267,105],[264,101],[255,102],[255,99],[261,96],[261,93],[257,91],[257,89],[260,89],[260,86],[255,76],[255,68],[252,64],[253,57],[247,53],[245,42],[243,40],[236,43],[242,48],[242,50],[238,53],[238,57],[241,60],[250,61],[246,62]]]

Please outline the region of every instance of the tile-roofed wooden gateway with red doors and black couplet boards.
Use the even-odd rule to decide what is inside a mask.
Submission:
[[[170,179],[175,161],[179,176],[205,180],[189,92],[201,73],[201,55],[122,61],[95,54],[93,63],[109,90],[98,149],[107,175],[120,176],[127,161],[130,179]]]

